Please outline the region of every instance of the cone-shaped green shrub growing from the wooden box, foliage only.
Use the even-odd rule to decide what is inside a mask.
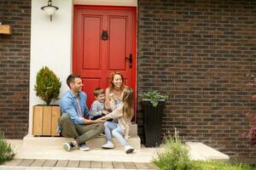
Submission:
[[[53,99],[59,99],[60,89],[60,79],[47,66],[38,71],[35,90],[37,96],[43,99],[46,105],[49,105]]]

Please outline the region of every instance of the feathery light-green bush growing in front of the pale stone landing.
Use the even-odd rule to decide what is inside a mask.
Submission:
[[[194,169],[189,160],[189,150],[181,141],[172,138],[164,140],[164,150],[157,152],[153,162],[163,170],[189,170]]]

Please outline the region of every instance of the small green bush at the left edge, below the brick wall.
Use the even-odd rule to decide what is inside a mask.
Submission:
[[[4,161],[10,161],[15,157],[15,152],[5,139],[4,134],[0,132],[0,164]]]

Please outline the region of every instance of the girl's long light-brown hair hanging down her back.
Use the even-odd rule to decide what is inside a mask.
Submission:
[[[133,91],[131,88],[124,88],[123,103],[124,117],[131,119],[133,116]]]

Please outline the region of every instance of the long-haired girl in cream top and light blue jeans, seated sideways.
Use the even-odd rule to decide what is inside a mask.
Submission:
[[[131,145],[127,144],[125,139],[128,139],[129,128],[131,125],[131,118],[133,116],[133,95],[131,88],[124,88],[121,95],[122,102],[119,105],[115,105],[114,95],[109,94],[110,108],[113,112],[109,113],[107,116],[102,116],[100,120],[107,120],[110,118],[117,118],[118,122],[105,122],[105,134],[107,138],[107,143],[102,145],[104,149],[113,149],[113,136],[119,140],[119,143],[125,147],[126,154],[131,153],[134,149]],[[125,139],[123,138],[125,136]]]

